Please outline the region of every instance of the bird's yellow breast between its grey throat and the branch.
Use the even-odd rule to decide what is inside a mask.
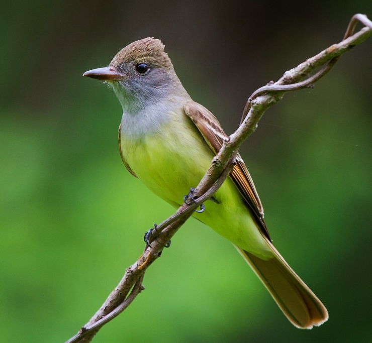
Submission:
[[[174,116],[154,131],[130,135],[121,128],[121,151],[140,180],[177,206],[207,171],[213,153],[189,118]]]

